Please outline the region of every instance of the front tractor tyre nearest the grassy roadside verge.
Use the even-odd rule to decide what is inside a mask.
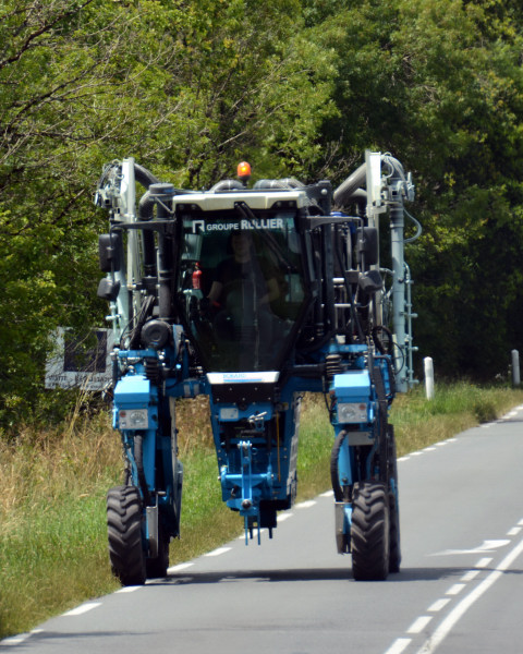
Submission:
[[[142,499],[135,486],[115,486],[107,494],[109,558],[123,585],[145,583],[142,545]]]

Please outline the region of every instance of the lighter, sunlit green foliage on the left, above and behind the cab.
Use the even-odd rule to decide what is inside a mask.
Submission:
[[[0,424],[13,429],[48,404],[51,330],[102,324],[105,216],[90,204],[101,166],[132,155],[191,186],[247,157],[259,175],[313,175],[333,69],[301,32],[297,0],[1,11]]]

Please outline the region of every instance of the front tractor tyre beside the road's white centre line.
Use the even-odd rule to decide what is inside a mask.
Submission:
[[[352,572],[356,581],[382,581],[389,573],[389,498],[385,484],[354,486],[351,525]]]

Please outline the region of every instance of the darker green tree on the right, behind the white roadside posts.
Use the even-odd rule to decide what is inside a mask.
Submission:
[[[318,26],[338,52],[326,138],[343,134],[348,162],[372,147],[413,171],[416,341],[448,375],[491,377],[521,343],[510,312],[523,280],[507,268],[522,255],[521,13],[503,0],[360,0]]]

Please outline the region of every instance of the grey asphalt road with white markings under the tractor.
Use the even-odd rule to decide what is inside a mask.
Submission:
[[[523,651],[523,407],[399,463],[403,561],[355,582],[331,494],[243,538],[4,640],[20,654]]]

